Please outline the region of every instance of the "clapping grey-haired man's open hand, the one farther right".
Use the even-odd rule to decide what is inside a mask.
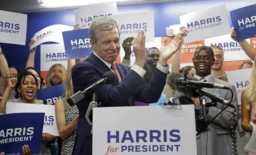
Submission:
[[[171,58],[171,56],[178,51],[180,48],[180,45],[182,44],[182,36],[180,33],[176,34],[173,38],[173,41],[167,45],[167,38],[163,41],[163,44],[160,48],[160,58],[159,58],[159,64],[162,66],[166,66],[167,60]]]

